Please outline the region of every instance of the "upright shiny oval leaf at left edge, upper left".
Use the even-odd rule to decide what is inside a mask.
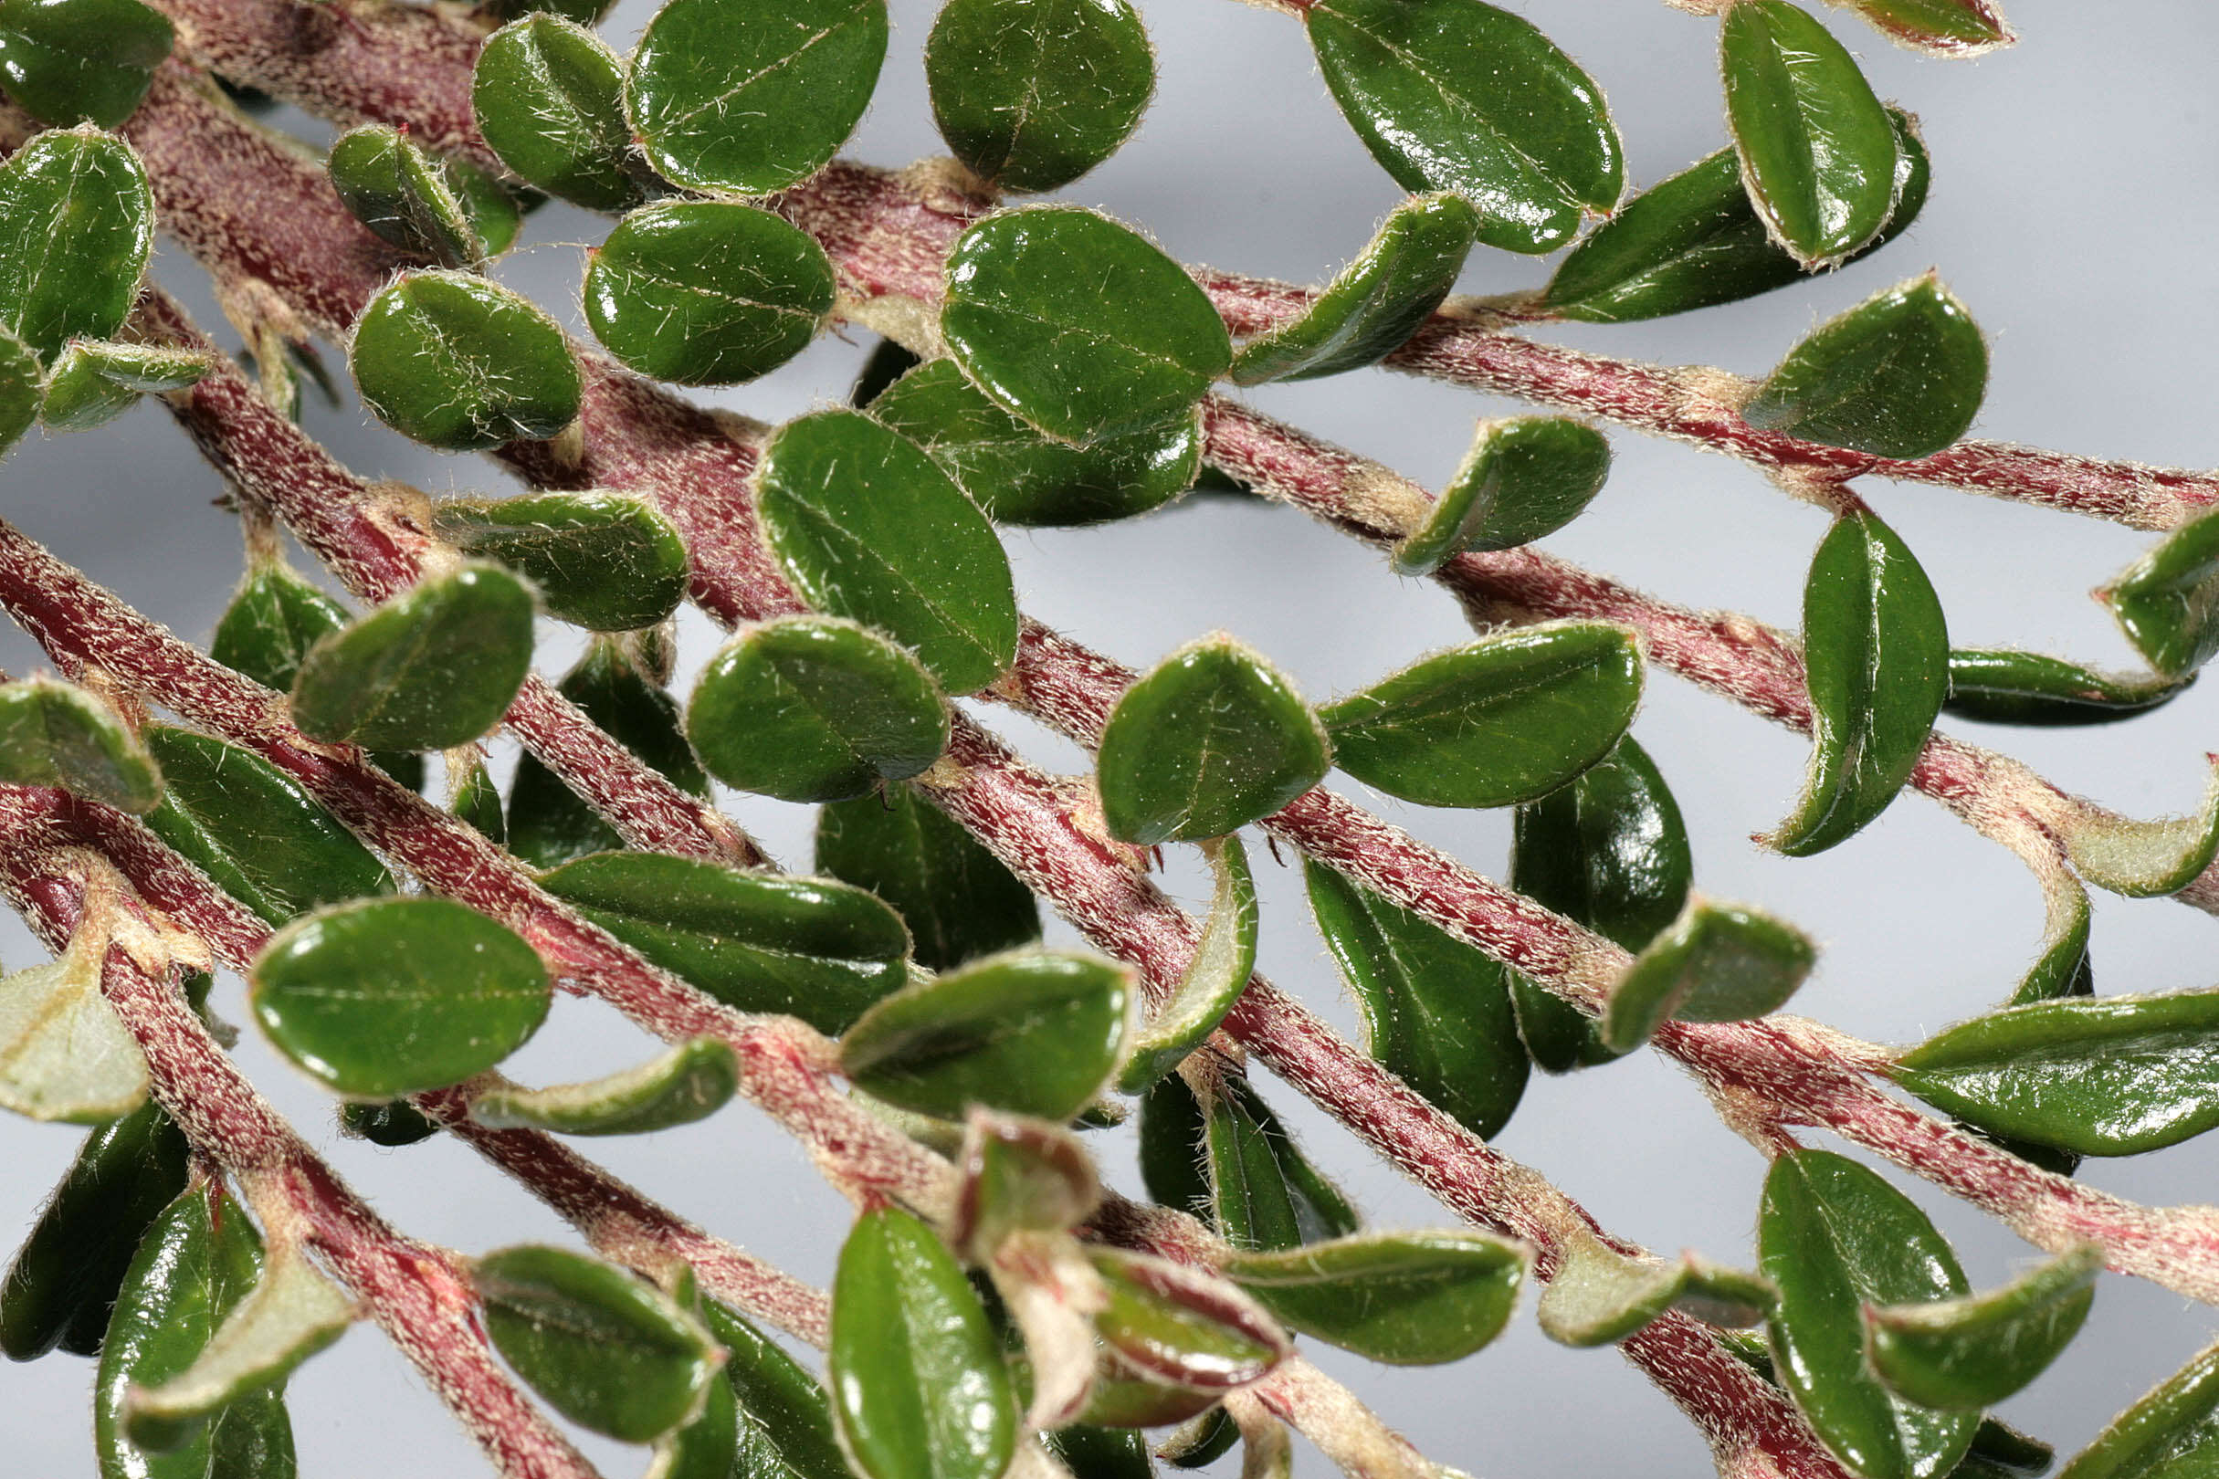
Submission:
[[[122,140],[47,131],[0,164],[0,328],[42,359],[122,328],[151,251],[153,191]]]

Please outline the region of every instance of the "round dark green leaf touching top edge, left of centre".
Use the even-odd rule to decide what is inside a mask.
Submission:
[[[925,42],[932,122],[987,184],[1054,191],[1141,122],[1156,55],[1125,0],[950,0]]]

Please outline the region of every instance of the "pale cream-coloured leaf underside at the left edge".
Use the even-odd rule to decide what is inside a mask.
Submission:
[[[146,1055],[100,996],[104,942],[0,978],[0,1109],[100,1124],[146,1100]]]

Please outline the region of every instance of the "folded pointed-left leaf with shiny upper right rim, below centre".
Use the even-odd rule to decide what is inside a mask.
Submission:
[[[841,1036],[841,1071],[896,1109],[972,1104],[1070,1120],[1110,1082],[1132,1031],[1132,976],[1092,956],[1019,951],[916,982]]]

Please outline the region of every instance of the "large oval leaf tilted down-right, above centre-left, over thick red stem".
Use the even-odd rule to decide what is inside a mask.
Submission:
[[[914,441],[854,410],[788,421],[763,450],[757,512],[812,608],[912,647],[950,694],[1016,659],[1010,557]]]

